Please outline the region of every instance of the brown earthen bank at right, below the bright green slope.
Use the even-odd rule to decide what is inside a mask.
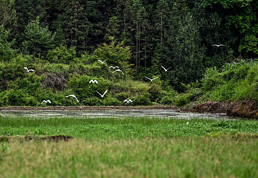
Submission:
[[[208,101],[201,104],[192,103],[183,106],[180,110],[200,113],[226,113],[227,116],[258,120],[258,107],[252,100],[227,103],[215,101]]]

